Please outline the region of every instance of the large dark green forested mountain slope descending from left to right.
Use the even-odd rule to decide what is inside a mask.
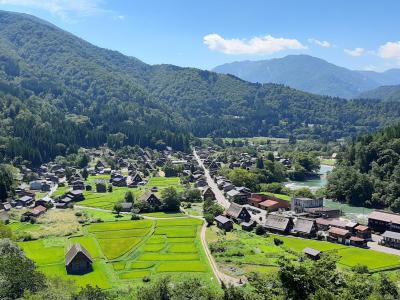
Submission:
[[[0,12],[0,160],[38,164],[78,146],[188,146],[190,136],[334,139],[400,119],[400,103],[147,65],[35,17]]]

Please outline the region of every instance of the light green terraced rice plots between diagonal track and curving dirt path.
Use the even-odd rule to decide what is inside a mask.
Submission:
[[[122,270],[121,264],[114,266],[119,278],[140,279],[143,274],[158,276],[182,272],[210,274],[197,238],[201,224],[201,220],[192,218],[157,220],[153,235],[128,255],[132,259],[125,263],[125,268]]]

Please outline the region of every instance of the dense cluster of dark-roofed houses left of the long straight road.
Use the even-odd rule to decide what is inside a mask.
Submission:
[[[20,166],[20,186],[15,190],[15,196],[0,203],[0,221],[8,223],[9,211],[13,208],[27,208],[23,214],[23,221],[30,221],[37,218],[48,209],[55,207],[58,209],[73,207],[74,203],[85,199],[84,192],[95,189],[97,193],[107,193],[112,191],[112,187],[135,188],[147,183],[146,177],[155,174],[167,162],[173,164],[182,163],[187,172],[188,178],[194,178],[195,160],[192,155],[180,151],[173,151],[166,147],[164,151],[137,148],[134,154],[118,155],[110,149],[86,149],[83,150],[94,165],[86,168],[87,175],[110,175],[109,179],[99,179],[93,185],[85,181],[82,169],[72,166],[62,166],[54,162],[43,164],[36,169],[29,169]],[[122,173],[122,169],[127,169],[128,174]],[[182,175],[185,175],[182,174]],[[198,174],[197,174],[198,176]],[[49,196],[57,187],[68,187],[63,195],[57,197]],[[152,204],[157,204],[155,192],[152,195],[143,195],[143,201],[150,199]],[[38,193],[41,194],[37,197]],[[48,193],[43,197],[43,194]],[[40,199],[37,199],[40,198]],[[123,203],[122,211],[131,211],[132,203]]]

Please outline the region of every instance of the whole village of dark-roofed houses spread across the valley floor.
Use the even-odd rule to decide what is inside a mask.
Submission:
[[[211,202],[221,208],[212,220],[206,220],[208,226],[216,224],[222,232],[255,231],[260,235],[293,236],[400,254],[396,249],[400,248],[399,214],[375,210],[367,223],[359,223],[346,218],[340,209],[324,207],[322,198],[288,199],[284,195],[235,186],[219,175],[223,163],[213,159],[214,152],[211,147],[195,147],[193,153],[167,147],[164,151],[136,148],[127,154],[117,154],[103,148],[83,150],[82,155],[88,160],[84,168],[55,162],[36,169],[21,166],[15,198],[1,203],[0,217],[5,224],[35,224],[50,210],[75,208],[143,219],[142,216],[165,211],[160,191],[165,188],[162,180],[171,177],[176,183],[174,188],[181,194],[182,205],[189,201],[185,197],[192,191],[197,195],[196,201]],[[290,167],[289,159],[278,159]],[[243,153],[228,168],[249,169],[256,162],[257,156]],[[29,181],[30,178],[33,180]],[[127,200],[127,193],[136,199]],[[179,210],[185,212],[186,208],[178,205],[176,212]],[[203,211],[198,215],[202,216]],[[304,247],[302,252],[312,259],[321,255],[320,250],[312,247]],[[92,254],[81,243],[69,244],[65,250],[67,274],[87,274],[92,263]]]

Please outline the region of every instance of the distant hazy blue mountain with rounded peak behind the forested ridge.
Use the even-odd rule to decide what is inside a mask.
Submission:
[[[284,84],[314,94],[344,98],[354,98],[380,85],[400,84],[400,70],[352,71],[309,55],[234,62],[213,71],[250,82]]]

